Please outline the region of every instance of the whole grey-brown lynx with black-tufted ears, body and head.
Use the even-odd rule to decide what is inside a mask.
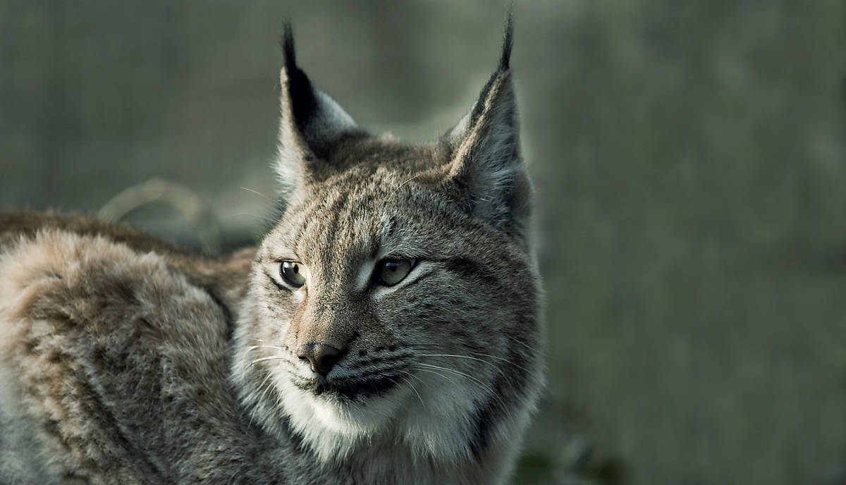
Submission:
[[[0,216],[0,482],[507,482],[543,381],[511,46],[509,19],[470,113],[413,145],[286,27],[257,248]]]

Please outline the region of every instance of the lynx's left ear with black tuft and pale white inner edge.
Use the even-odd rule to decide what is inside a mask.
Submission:
[[[285,63],[279,73],[281,120],[276,171],[286,194],[301,185],[310,169],[318,168],[311,165],[325,159],[345,135],[365,132],[299,69],[290,24],[284,26],[282,47]]]

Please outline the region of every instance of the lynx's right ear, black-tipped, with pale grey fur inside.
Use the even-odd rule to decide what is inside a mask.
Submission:
[[[530,185],[519,151],[519,123],[509,60],[512,21],[508,15],[497,71],[475,107],[446,138],[453,147],[449,177],[475,218],[497,227],[521,227],[529,215]]]

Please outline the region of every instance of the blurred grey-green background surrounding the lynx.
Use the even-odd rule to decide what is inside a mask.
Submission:
[[[250,244],[285,16],[360,124],[422,141],[470,108],[504,10],[0,0],[0,207],[167,193],[124,220]],[[846,2],[514,10],[549,335],[515,482],[846,483]]]

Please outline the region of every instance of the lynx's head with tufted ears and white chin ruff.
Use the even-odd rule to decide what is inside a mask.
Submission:
[[[401,444],[513,453],[541,385],[530,184],[509,56],[441,139],[360,128],[283,42],[283,212],[261,244],[233,379],[322,460]]]

